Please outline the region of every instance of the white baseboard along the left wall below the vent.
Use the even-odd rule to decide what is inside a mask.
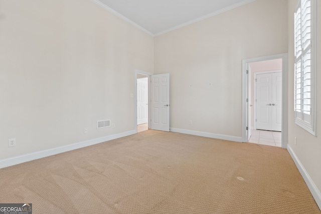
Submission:
[[[60,147],[56,147],[56,148],[52,148],[52,149],[46,149],[43,151],[32,152],[32,153],[28,153],[28,154],[19,155],[16,157],[2,159],[2,160],[0,160],[0,168],[5,168],[5,167],[13,166],[13,165],[16,165],[19,163],[24,163],[24,162],[28,162],[31,160],[36,160],[39,158],[59,154],[62,152],[71,151],[71,150],[83,148],[86,146],[91,146],[94,144],[117,139],[120,137],[129,136],[129,135],[136,134],[136,133],[137,133],[136,130],[132,130],[132,131],[127,131],[127,132],[122,132],[119,134],[113,134],[113,135],[109,135],[109,136],[105,136],[105,137],[100,137],[100,138],[82,141],[82,142],[78,142],[78,143],[73,143],[73,144],[69,144],[69,145],[65,145],[65,146],[60,146]]]

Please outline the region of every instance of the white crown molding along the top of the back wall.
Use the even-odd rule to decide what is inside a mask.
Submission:
[[[168,30],[165,30],[165,31],[156,33],[156,34],[154,34],[154,37],[157,37],[157,36],[162,35],[162,34],[169,33],[169,32],[171,32],[171,31],[175,31],[175,30],[177,30],[177,29],[180,29],[180,28],[183,28],[183,27],[185,27],[185,26],[191,25],[191,24],[193,24],[193,23],[197,23],[197,22],[199,22],[199,21],[202,21],[202,20],[205,20],[205,19],[214,17],[214,16],[216,16],[216,15],[222,14],[222,13],[224,13],[224,12],[233,10],[233,9],[235,9],[235,8],[241,7],[241,6],[243,6],[243,5],[246,5],[246,4],[249,4],[249,3],[251,3],[251,2],[255,2],[255,1],[256,1],[256,0],[244,0],[244,1],[239,2],[239,3],[237,3],[237,4],[231,5],[231,6],[229,6],[229,7],[223,8],[223,9],[218,10],[218,11],[215,11],[215,12],[213,12],[213,13],[211,13],[211,14],[205,15],[205,16],[203,16],[203,17],[196,18],[196,19],[194,19],[194,20],[191,20],[191,21],[189,21],[189,22],[183,23],[183,24],[178,25],[178,26],[176,26],[176,27],[173,27],[173,28],[170,28],[170,29],[168,29]]]

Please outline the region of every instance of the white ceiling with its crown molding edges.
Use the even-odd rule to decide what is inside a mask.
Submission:
[[[91,0],[158,36],[256,0]]]

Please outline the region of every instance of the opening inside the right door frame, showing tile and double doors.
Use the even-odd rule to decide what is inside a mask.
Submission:
[[[249,71],[247,142],[281,147],[282,58],[252,62]]]

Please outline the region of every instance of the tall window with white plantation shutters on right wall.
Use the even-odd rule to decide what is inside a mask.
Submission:
[[[315,135],[315,0],[300,0],[294,14],[295,123]]]

